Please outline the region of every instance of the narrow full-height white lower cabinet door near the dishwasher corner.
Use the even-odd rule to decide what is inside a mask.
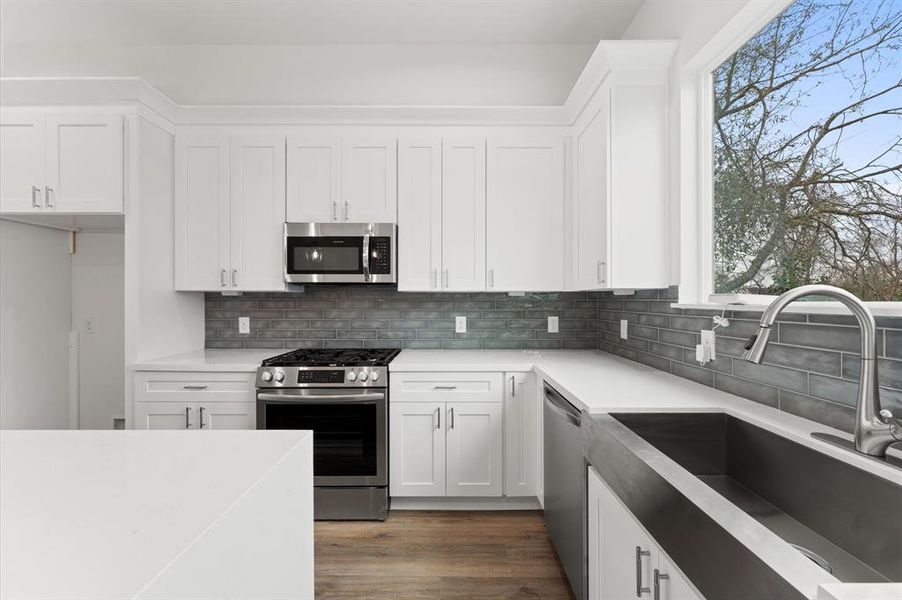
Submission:
[[[504,495],[535,496],[539,428],[533,373],[504,374]]]

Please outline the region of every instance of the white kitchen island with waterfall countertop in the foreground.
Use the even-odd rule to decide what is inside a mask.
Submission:
[[[0,432],[0,598],[313,598],[312,440]]]

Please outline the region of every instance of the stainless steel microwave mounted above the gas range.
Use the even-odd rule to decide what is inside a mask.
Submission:
[[[394,223],[285,223],[289,283],[395,283]]]

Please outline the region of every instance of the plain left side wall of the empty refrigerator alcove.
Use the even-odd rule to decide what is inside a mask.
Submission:
[[[0,428],[69,427],[69,234],[0,221]]]

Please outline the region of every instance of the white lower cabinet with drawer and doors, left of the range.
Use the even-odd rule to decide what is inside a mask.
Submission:
[[[253,373],[135,373],[135,429],[254,429]]]

